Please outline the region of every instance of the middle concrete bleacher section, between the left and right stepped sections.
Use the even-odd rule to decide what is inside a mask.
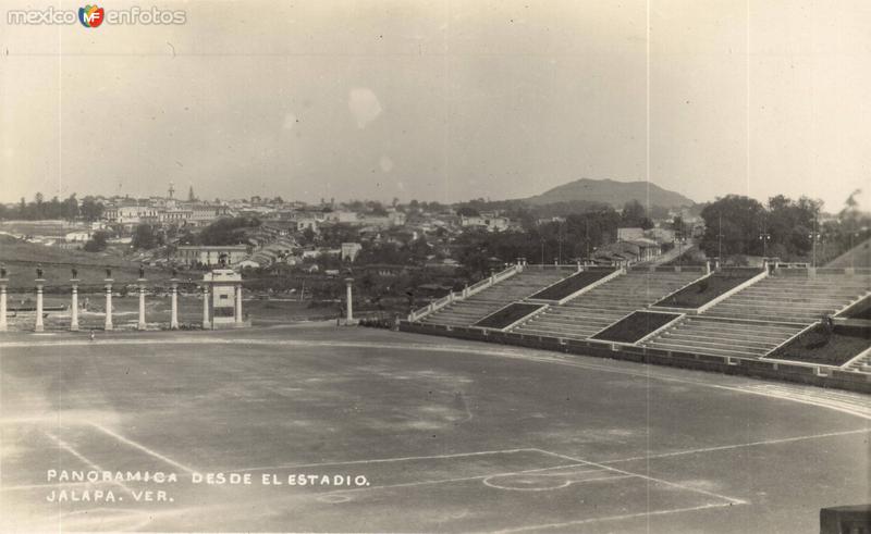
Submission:
[[[702,275],[699,271],[629,270],[562,306],[552,306],[512,332],[586,339]]]

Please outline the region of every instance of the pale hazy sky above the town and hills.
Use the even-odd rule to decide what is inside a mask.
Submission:
[[[0,21],[0,201],[458,201],[650,181],[871,209],[867,0],[112,2]]]

